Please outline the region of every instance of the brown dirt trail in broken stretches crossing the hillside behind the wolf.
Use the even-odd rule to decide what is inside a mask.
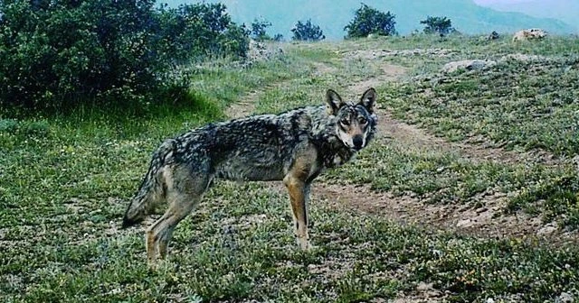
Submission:
[[[383,73],[379,77],[366,78],[346,87],[347,92],[361,92],[367,87],[377,87],[387,81],[402,79],[407,69],[378,62]],[[374,63],[376,64],[376,63]],[[318,72],[332,72],[335,69],[316,63]],[[283,84],[280,84],[282,86]],[[242,113],[252,112],[252,102],[261,92],[252,92],[242,99],[231,111],[232,117]],[[248,110],[242,110],[246,106]],[[441,137],[427,133],[425,130],[402,121],[396,120],[387,108],[378,107],[379,123],[374,144],[388,144],[390,140],[402,142],[409,148],[432,150],[437,152],[453,152],[469,161],[494,161],[498,163],[519,163],[540,161],[556,163],[555,158],[544,152],[512,152],[502,148],[490,147],[488,144],[476,142],[448,142]],[[285,191],[280,184],[271,184],[273,190]],[[448,230],[460,234],[472,234],[483,237],[503,238],[548,238],[568,242],[576,241],[576,233],[561,232],[556,225],[545,225],[540,218],[527,216],[520,212],[505,215],[503,210],[507,205],[507,195],[503,193],[480,195],[482,207],[473,208],[465,205],[428,205],[417,197],[394,197],[390,193],[378,193],[369,186],[333,185],[315,182],[312,189],[313,203],[325,202],[335,207],[346,207],[356,211],[383,216],[390,220],[409,225],[422,225],[432,230]]]

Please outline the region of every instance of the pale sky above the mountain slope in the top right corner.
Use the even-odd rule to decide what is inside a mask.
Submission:
[[[577,0],[475,0],[501,12],[518,12],[539,18],[554,18],[574,26],[579,32],[579,1]]]

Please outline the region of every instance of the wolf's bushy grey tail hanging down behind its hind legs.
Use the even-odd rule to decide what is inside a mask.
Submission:
[[[161,169],[173,161],[174,150],[175,142],[167,140],[153,154],[147,175],[125,211],[122,228],[142,221],[156,207],[157,202],[165,197],[166,185]]]

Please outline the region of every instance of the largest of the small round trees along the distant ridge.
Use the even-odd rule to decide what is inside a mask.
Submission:
[[[344,27],[346,38],[367,37],[370,33],[383,36],[397,34],[395,29],[396,16],[390,12],[383,13],[373,7],[362,4],[356,10],[354,19]]]

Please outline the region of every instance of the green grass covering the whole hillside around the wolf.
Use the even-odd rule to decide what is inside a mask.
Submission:
[[[310,209],[317,248],[299,252],[285,193],[262,183],[217,182],[176,229],[170,258],[157,271],[147,268],[142,228],[119,230],[150,153],[164,138],[224,119],[227,106],[255,90],[261,91],[256,113],[319,104],[327,87],[346,93],[353,83],[380,78],[384,63],[406,65],[420,77],[380,84],[380,102],[447,143],[381,139],[321,181],[370,183],[375,191],[412,193],[423,203],[472,207],[484,203],[482,193],[501,192],[510,197],[506,212],[524,210],[574,230],[575,42],[512,45],[506,39],[418,36],[298,44],[249,68],[225,61],[198,67],[183,107],[139,117],[96,108],[65,116],[0,116],[0,300],[380,302],[425,298],[421,285],[451,302],[544,302],[564,293],[579,298],[573,244],[399,225],[321,199]],[[441,57],[426,50],[434,48],[452,51]],[[371,61],[348,56],[378,49],[426,51]],[[517,52],[554,60],[437,72],[449,60],[498,60]],[[472,159],[449,147],[472,144],[472,138],[520,158]],[[554,154],[555,161],[529,159],[527,151]]]

